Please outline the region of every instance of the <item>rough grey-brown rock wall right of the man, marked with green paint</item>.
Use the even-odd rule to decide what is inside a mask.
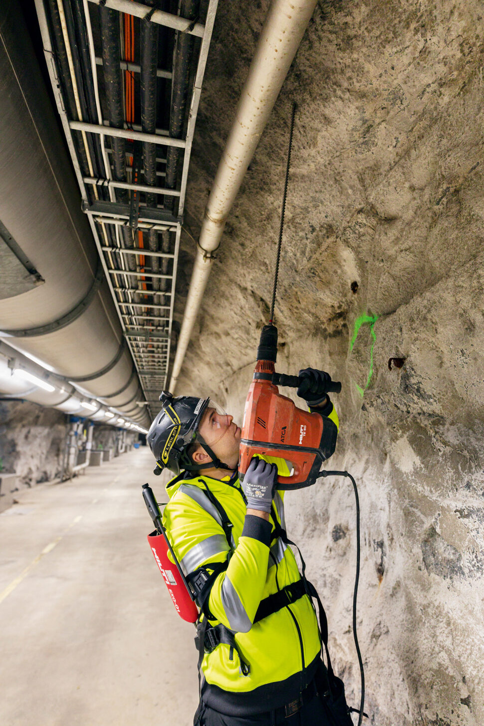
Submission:
[[[188,192],[194,237],[266,9],[218,11]],[[378,726],[484,723],[483,15],[475,0],[319,3],[231,211],[177,389],[217,396],[241,423],[295,99],[278,370],[312,365],[343,382],[330,468],[359,486],[358,636]],[[389,370],[391,358],[403,367]],[[287,519],[355,703],[349,481],[287,494]]]

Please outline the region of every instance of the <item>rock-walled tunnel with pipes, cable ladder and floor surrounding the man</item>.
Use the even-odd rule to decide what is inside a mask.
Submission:
[[[192,723],[146,437],[163,389],[244,428],[278,233],[276,372],[341,383],[363,722],[483,725],[483,68],[477,0],[0,4],[1,726]],[[358,704],[352,486],[284,507]]]

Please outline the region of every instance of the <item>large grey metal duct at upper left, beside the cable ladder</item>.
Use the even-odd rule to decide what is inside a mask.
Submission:
[[[15,0],[0,6],[0,93],[0,247],[37,274],[28,292],[22,292],[21,275],[17,288],[9,280],[10,296],[0,299],[0,338],[11,338],[148,425],[136,405],[142,398],[138,375]],[[0,291],[3,285],[1,280]]]

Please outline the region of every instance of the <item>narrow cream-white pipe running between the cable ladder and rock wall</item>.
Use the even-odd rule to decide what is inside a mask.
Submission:
[[[195,319],[223,228],[284,78],[298,50],[316,0],[274,0],[261,30],[229,139],[205,208],[170,390],[176,388]]]

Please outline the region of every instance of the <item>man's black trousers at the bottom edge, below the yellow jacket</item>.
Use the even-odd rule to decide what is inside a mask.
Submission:
[[[267,711],[255,716],[226,716],[204,706],[200,726],[331,726],[319,696],[304,703],[295,714],[286,716],[282,709]]]

